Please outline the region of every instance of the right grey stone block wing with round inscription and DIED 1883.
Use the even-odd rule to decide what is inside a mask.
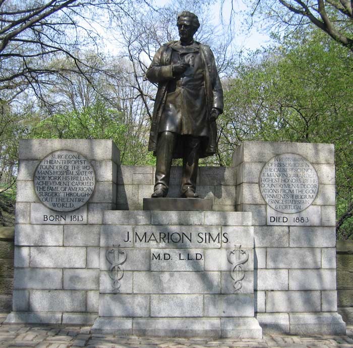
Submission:
[[[276,163],[292,170],[266,172]],[[233,165],[237,210],[253,213],[260,325],[291,333],[309,332],[317,321],[339,326],[333,145],[245,142]],[[296,186],[285,185],[287,178]]]

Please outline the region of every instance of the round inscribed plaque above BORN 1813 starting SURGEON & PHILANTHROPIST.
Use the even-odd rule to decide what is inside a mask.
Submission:
[[[95,186],[95,173],[81,154],[71,150],[46,156],[34,173],[34,189],[40,201],[59,212],[71,212],[84,205]]]

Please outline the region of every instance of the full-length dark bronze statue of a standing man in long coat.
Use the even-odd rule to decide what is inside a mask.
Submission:
[[[216,147],[215,120],[223,111],[223,91],[209,46],[194,41],[200,27],[197,16],[178,16],[180,41],[162,45],[146,77],[158,83],[148,149],[157,156],[152,198],[165,197],[173,158],[183,158],[181,193],[197,198],[199,158]]]

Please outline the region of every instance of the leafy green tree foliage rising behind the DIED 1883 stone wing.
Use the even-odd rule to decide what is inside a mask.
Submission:
[[[292,35],[255,52],[227,82],[219,122],[223,162],[243,140],[333,143],[337,236],[353,238],[352,101],[353,59],[324,34]]]

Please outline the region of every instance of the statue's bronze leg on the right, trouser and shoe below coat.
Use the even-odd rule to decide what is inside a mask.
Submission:
[[[195,190],[201,138],[196,136],[186,136],[185,138],[181,191],[184,197],[197,198]]]

